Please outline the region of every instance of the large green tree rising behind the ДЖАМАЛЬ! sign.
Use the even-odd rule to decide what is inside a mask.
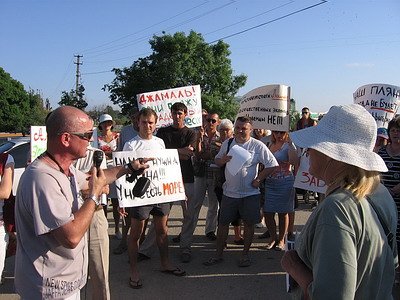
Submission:
[[[233,76],[228,44],[209,45],[191,31],[187,36],[182,32],[154,36],[150,45],[151,55],[128,68],[113,69],[115,79],[103,88],[123,113],[137,107],[137,94],[199,84],[203,108],[225,118],[236,116],[239,105],[234,96],[247,77]]]

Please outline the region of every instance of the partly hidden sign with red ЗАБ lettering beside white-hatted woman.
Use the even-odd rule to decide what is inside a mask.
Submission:
[[[303,190],[325,194],[327,189],[325,182],[322,179],[318,179],[311,175],[309,169],[310,158],[308,157],[307,152],[304,151],[300,158],[300,166],[293,186]]]

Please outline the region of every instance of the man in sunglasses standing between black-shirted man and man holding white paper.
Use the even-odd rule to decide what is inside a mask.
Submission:
[[[207,126],[205,126],[205,130],[200,128],[197,132],[195,162],[204,168],[204,172],[203,174],[197,174],[197,176],[195,173],[195,205],[191,219],[191,232],[193,235],[207,191],[208,211],[205,235],[210,241],[215,241],[217,239],[215,231],[217,229],[218,200],[214,192],[214,182],[217,176],[219,176],[219,167],[214,164],[214,157],[218,154],[221,147],[221,139],[217,131],[220,123],[219,115],[209,113],[206,122]]]

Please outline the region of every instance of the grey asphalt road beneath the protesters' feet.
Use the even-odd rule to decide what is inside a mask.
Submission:
[[[233,230],[228,238],[228,248],[224,254],[224,262],[212,267],[202,263],[213,255],[215,242],[204,236],[205,215],[207,208],[203,206],[199,223],[195,232],[192,248],[192,261],[179,261],[179,246],[170,242],[170,258],[173,264],[187,272],[185,277],[176,277],[160,272],[159,255],[156,252],[150,260],[139,263],[143,288],[131,289],[128,285],[129,264],[127,253],[112,254],[119,241],[114,237],[112,214],[109,212],[110,234],[110,289],[111,299],[290,299],[286,292],[286,277],[280,266],[282,252],[264,250],[261,247],[265,240],[258,235],[265,228],[256,228],[256,236],[251,247],[252,265],[238,267],[242,246],[233,244]],[[311,205],[300,203],[296,211],[296,230],[300,231],[311,213]],[[182,212],[178,205],[171,210],[169,220],[170,240],[180,232]],[[0,299],[19,299],[13,294],[14,257],[6,260],[5,280],[0,286]],[[400,299],[396,291],[395,299]],[[82,299],[90,299],[90,291],[83,291]]]

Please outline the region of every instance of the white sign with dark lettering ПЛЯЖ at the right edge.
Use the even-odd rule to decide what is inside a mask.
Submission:
[[[400,87],[381,83],[363,85],[353,93],[353,99],[371,113],[378,128],[387,128],[400,104]]]

